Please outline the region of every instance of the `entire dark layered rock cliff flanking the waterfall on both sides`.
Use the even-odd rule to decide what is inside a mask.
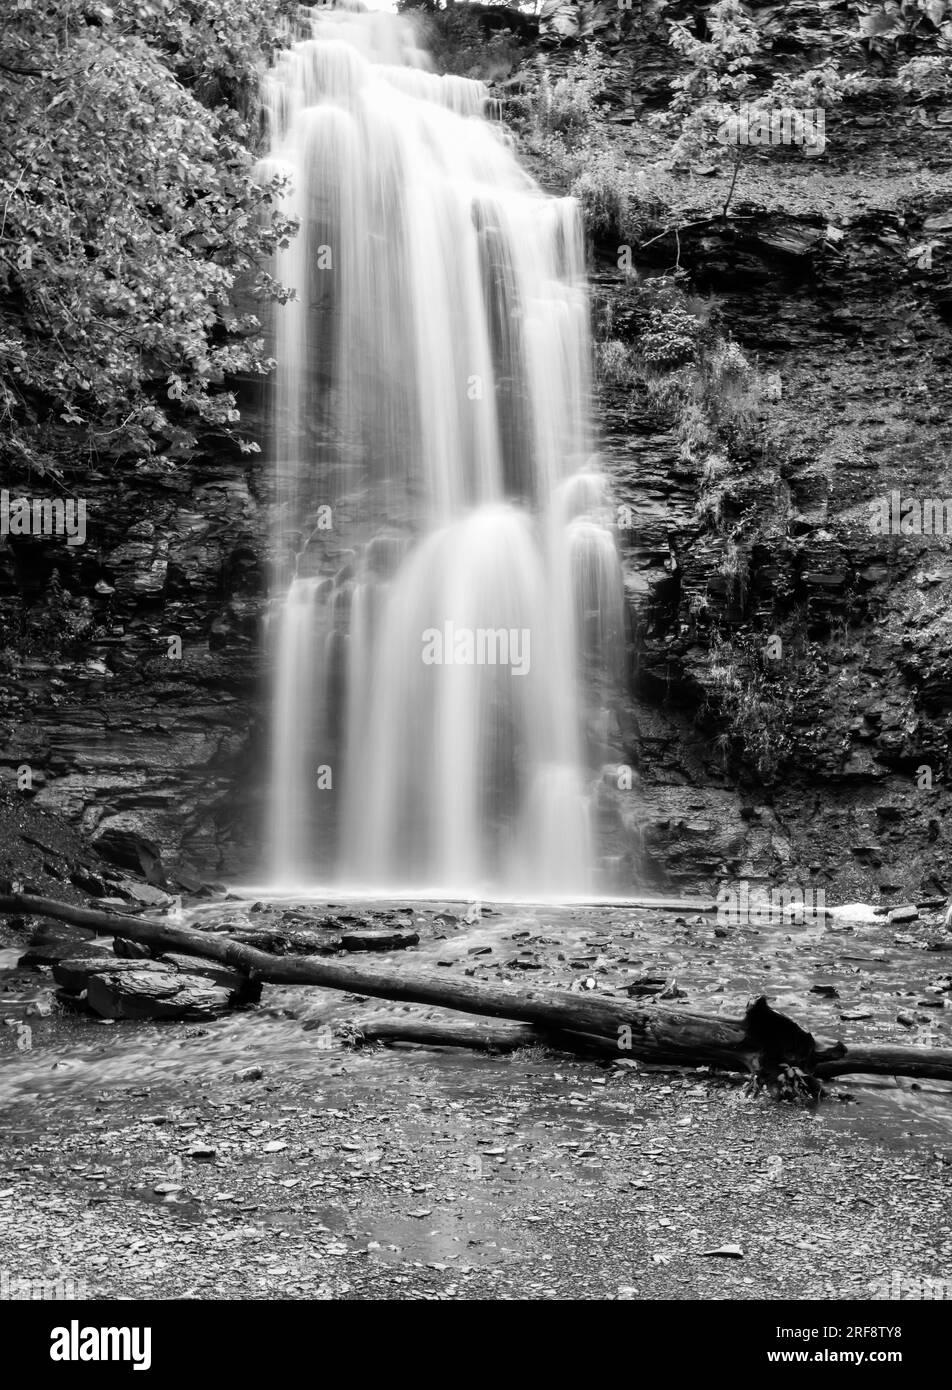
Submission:
[[[948,129],[937,117],[899,138],[883,113],[844,118],[838,139],[848,153],[794,213],[738,202],[677,247],[662,238],[637,277],[617,270],[617,238],[592,247],[596,336],[637,343],[639,286],[677,254],[777,382],[757,446],[720,471],[685,460],[635,386],[599,384],[605,467],[628,509],[630,688],[591,730],[618,887],[952,892],[952,542],[869,525],[876,498],[952,499]],[[876,140],[899,172],[927,165],[895,188],[877,165],[878,200],[862,185]],[[920,265],[912,250],[930,240]],[[170,863],[253,876],[264,464],[211,449],[174,468],[104,466],[82,495],[85,545],[0,545],[0,773],[93,838],[131,828]]]

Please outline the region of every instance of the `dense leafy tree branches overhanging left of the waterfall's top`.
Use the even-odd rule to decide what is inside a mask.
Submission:
[[[252,146],[256,64],[288,8],[17,0],[0,21],[0,92],[18,113],[0,133],[8,461],[236,438],[225,377],[270,370],[250,310],[286,297],[265,265],[293,227]]]

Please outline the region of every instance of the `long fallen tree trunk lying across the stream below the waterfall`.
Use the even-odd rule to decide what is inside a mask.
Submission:
[[[76,908],[32,894],[0,895],[0,915],[54,917],[93,927],[107,935],[139,941],[153,951],[221,960],[247,976],[252,983],[311,984],[329,990],[368,994],[475,1013],[520,1020],[536,1030],[589,1034],[617,1056],[716,1066],[773,1080],[794,1069],[806,1077],[837,1076],[845,1072],[920,1076],[952,1080],[952,1049],[948,1048],[853,1048],[834,1042],[817,1048],[813,1036],[792,1019],[775,1013],[766,998],[756,999],[741,1019],[696,1013],[662,1005],[641,1006],[631,999],[543,990],[475,980],[436,979],[424,970],[340,963],[328,959],[272,956],[218,933],[177,927],[167,922],[129,917],[101,909]],[[909,1070],[908,1070],[909,1068]]]

